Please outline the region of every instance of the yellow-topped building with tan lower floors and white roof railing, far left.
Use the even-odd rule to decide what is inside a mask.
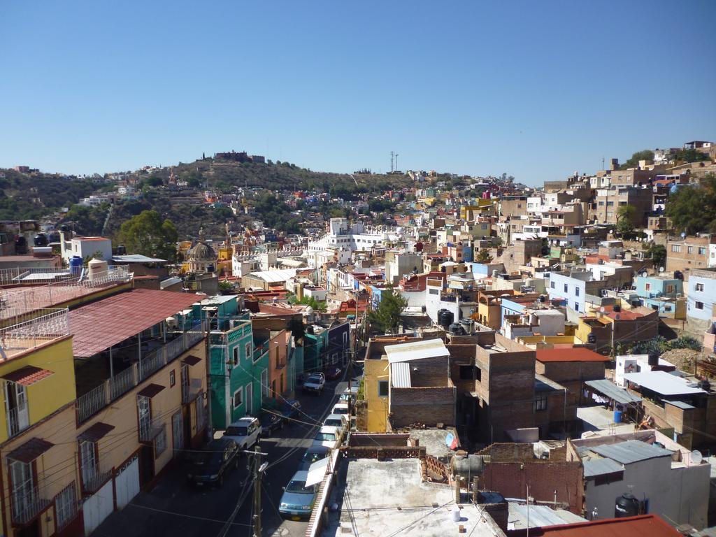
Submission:
[[[67,309],[0,333],[0,513],[5,536],[82,533]]]

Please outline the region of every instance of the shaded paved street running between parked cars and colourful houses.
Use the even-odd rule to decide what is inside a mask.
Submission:
[[[329,382],[320,396],[304,396],[299,393],[301,410],[308,416],[299,415],[297,419],[308,423],[320,420],[332,400],[337,397],[334,393],[342,390],[344,385],[346,384]],[[305,448],[311,445],[314,432],[314,426],[290,422],[282,430],[274,432],[273,437],[261,440],[261,451],[269,454],[264,459],[269,463],[269,468],[263,480],[261,501],[261,520],[265,536],[304,536],[306,522],[285,521],[279,516],[277,508],[283,493],[282,487],[294,475]],[[153,490],[139,493],[122,511],[112,513],[92,536],[217,535],[235,508],[239,494],[246,484],[249,475],[248,458],[241,459],[238,470],[228,475],[223,488],[195,489],[185,482],[185,473],[183,465],[176,465],[160,479]],[[250,490],[234,519],[229,536],[251,537],[252,499],[253,490]]]

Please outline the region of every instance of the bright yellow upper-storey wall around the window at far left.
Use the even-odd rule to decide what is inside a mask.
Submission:
[[[55,342],[33,349],[24,356],[2,362],[0,375],[6,375],[28,365],[49,369],[54,373],[26,387],[29,422],[33,425],[76,398],[72,337],[57,339]],[[4,409],[4,390],[0,390],[0,399],[2,399],[1,407]],[[6,412],[0,412],[0,442],[8,438],[6,420]]]

